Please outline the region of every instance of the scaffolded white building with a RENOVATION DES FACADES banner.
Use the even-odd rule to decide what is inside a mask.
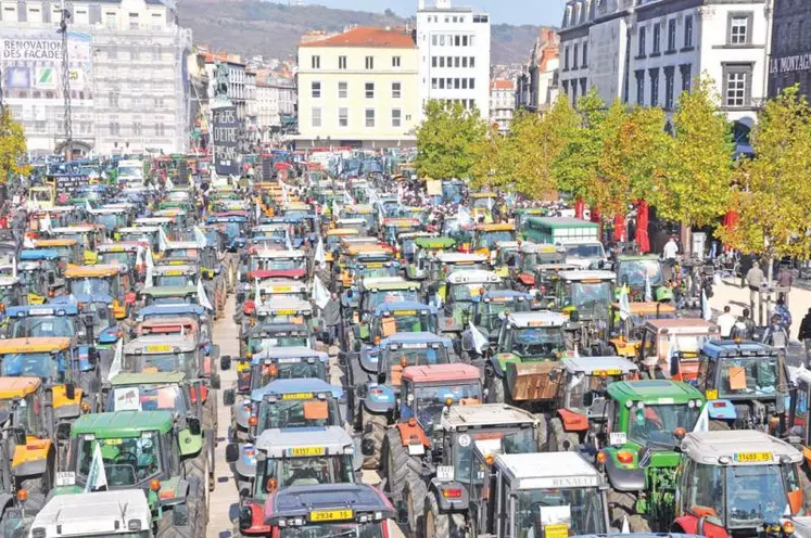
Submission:
[[[72,153],[186,151],[191,31],[160,0],[68,4]],[[0,0],[3,95],[33,155],[65,150],[62,37],[55,0]]]

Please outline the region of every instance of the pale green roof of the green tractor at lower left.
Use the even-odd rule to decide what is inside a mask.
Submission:
[[[72,435],[93,434],[97,437],[138,437],[141,432],[156,430],[168,433],[174,420],[170,411],[116,411],[90,413],[73,423]]]

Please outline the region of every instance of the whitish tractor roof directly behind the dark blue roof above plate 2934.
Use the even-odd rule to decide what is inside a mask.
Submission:
[[[265,430],[256,439],[255,447],[257,450],[267,452],[268,458],[314,456],[313,453],[297,454],[289,450],[299,447],[321,448],[327,456],[353,454],[355,452],[352,437],[341,426]]]

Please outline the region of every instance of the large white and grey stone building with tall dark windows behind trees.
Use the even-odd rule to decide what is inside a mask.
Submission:
[[[560,30],[561,89],[576,99],[594,86],[607,102],[673,111],[706,73],[730,119],[748,131],[768,89],[769,4],[570,0]]]

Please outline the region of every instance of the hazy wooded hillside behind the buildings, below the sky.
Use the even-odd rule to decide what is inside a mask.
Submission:
[[[258,0],[179,0],[180,24],[192,29],[194,42],[243,55],[284,59],[295,54],[307,30],[341,31],[349,25],[414,25],[392,12],[366,13],[321,5],[287,5]],[[523,63],[537,36],[537,26],[492,26],[491,62]]]

